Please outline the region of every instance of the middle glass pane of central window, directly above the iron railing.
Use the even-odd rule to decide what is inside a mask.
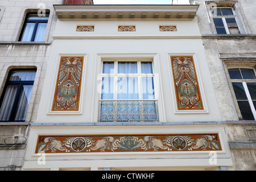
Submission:
[[[118,99],[138,99],[138,78],[137,77],[118,77],[117,84]]]

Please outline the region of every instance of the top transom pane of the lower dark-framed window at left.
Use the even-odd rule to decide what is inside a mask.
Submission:
[[[13,71],[10,76],[10,81],[34,81],[35,71]]]

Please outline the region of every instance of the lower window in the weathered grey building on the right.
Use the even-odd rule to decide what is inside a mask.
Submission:
[[[256,76],[253,69],[229,69],[237,104],[244,120],[256,119]]]

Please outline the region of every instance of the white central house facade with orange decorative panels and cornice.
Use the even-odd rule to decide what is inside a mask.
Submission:
[[[197,10],[54,5],[22,169],[233,169]]]

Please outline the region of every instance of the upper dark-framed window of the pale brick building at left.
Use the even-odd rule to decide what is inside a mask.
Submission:
[[[21,42],[43,42],[49,14],[38,16],[37,14],[27,14],[23,24],[22,33],[19,37]]]

